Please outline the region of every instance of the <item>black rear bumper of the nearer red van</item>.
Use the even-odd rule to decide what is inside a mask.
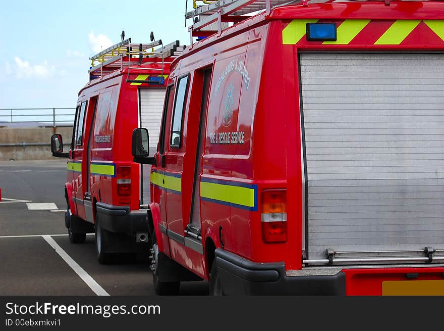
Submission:
[[[227,295],[345,295],[346,275],[288,276],[284,262],[257,263],[223,249],[215,262],[221,287]]]

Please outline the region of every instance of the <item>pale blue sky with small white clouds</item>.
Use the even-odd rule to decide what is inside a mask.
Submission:
[[[119,42],[122,30],[133,42],[149,42],[153,31],[164,44],[188,45],[185,3],[0,0],[0,109],[75,107],[89,58]]]

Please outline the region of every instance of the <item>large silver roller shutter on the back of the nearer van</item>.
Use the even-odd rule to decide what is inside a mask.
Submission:
[[[309,259],[443,249],[444,55],[307,53],[300,70]]]

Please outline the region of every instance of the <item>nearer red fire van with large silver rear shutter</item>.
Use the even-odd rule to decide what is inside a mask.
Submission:
[[[146,160],[157,293],[192,274],[211,294],[443,295],[443,13],[390,0],[191,12],[206,38],[172,64]]]

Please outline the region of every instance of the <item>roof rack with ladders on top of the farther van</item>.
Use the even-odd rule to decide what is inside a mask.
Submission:
[[[171,58],[177,57],[186,48],[185,45],[180,45],[179,40],[163,45],[161,39],[154,39],[153,32],[150,34],[151,41],[147,43],[134,43],[131,38],[125,39],[125,31],[122,31],[121,38],[122,41],[90,58],[89,81],[124,68],[128,68],[128,76],[131,69],[159,70],[163,75],[164,65],[170,64]],[[157,46],[161,47],[154,49]],[[161,67],[147,68],[142,66],[149,63],[161,63]]]

